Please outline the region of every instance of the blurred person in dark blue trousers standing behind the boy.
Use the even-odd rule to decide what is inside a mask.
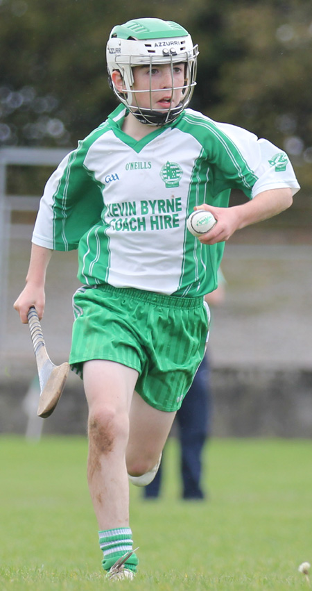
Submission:
[[[218,288],[205,296],[212,308],[225,299],[225,279],[219,269]],[[180,442],[180,469],[182,477],[182,499],[205,499],[202,488],[202,452],[209,438],[211,428],[212,397],[210,385],[209,350],[198,367],[194,381],[177,410],[175,422],[178,426]],[[144,488],[145,499],[157,499],[162,485],[162,463],[154,480]]]

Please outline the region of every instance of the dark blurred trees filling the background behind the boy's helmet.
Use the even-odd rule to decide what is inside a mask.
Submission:
[[[74,147],[101,123],[116,106],[107,37],[139,16],[190,31],[191,107],[286,149],[303,188],[297,212],[311,215],[311,0],[0,0],[0,146]]]

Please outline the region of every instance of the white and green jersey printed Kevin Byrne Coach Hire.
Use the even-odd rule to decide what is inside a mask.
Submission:
[[[134,140],[121,105],[69,153],[40,202],[33,242],[78,248],[78,278],[193,297],[217,286],[223,243],[187,231],[194,206],[227,207],[231,189],[299,189],[286,154],[242,128],[185,110]]]

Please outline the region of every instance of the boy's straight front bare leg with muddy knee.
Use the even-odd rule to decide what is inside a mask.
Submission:
[[[135,369],[104,360],[83,366],[89,406],[88,483],[100,530],[128,526],[129,484],[125,449]]]

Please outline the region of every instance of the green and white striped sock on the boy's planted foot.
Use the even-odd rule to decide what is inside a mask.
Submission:
[[[130,527],[121,527],[116,529],[107,529],[98,532],[100,548],[103,551],[102,565],[103,569],[110,570],[116,563],[116,560],[131,552],[133,548],[132,531]],[[125,562],[125,568],[137,572],[139,560],[135,553]]]

